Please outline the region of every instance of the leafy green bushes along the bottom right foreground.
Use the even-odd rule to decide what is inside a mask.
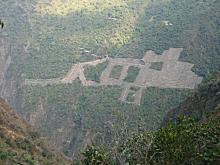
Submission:
[[[100,147],[85,151],[85,164],[218,164],[220,117],[205,123],[182,117],[154,133],[136,134],[115,152]],[[110,156],[111,155],[111,156]],[[90,163],[88,163],[90,162]]]

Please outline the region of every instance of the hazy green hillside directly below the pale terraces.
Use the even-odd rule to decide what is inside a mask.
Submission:
[[[72,155],[82,148],[88,133],[88,138],[93,137],[98,144],[111,144],[113,139],[132,132],[157,128],[166,112],[178,106],[190,91],[149,88],[144,92],[141,107],[120,102],[119,87],[83,88],[80,81],[56,88],[26,87],[23,92],[25,97],[20,113],[30,116],[39,109],[42,100],[46,112],[41,113],[46,116],[39,114],[37,128],[54,140],[60,136],[57,129],[66,126],[67,132],[72,131],[69,133],[72,143],[64,150]],[[68,121],[75,127],[69,128]]]

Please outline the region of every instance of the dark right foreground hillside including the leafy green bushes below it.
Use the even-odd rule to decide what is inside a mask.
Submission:
[[[90,146],[82,161],[85,164],[219,164],[219,82],[219,74],[212,76],[167,114],[166,123],[159,130],[134,134],[112,148]]]

